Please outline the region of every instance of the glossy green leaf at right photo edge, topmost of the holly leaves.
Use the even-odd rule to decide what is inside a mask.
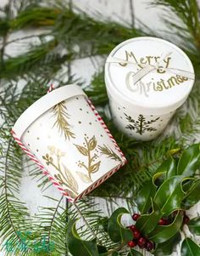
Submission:
[[[192,145],[183,151],[177,166],[177,174],[185,177],[193,176],[199,165],[199,144]]]

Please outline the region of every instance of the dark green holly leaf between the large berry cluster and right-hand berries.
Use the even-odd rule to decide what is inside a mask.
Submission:
[[[142,235],[147,236],[158,225],[159,219],[162,217],[158,206],[152,202],[153,212],[144,214],[136,221],[136,228],[142,232]]]

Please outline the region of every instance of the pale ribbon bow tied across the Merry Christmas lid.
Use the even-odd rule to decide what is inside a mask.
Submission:
[[[132,80],[131,82],[133,84],[136,84],[136,82],[140,81],[142,79],[142,77],[145,77],[147,76],[147,74],[151,73],[152,71],[155,71],[155,70],[158,70],[158,69],[161,69],[164,70],[164,71],[169,71],[171,73],[174,73],[175,75],[177,76],[180,76],[180,77],[186,77],[190,80],[194,80],[195,79],[195,75],[194,73],[190,72],[190,71],[185,71],[185,70],[181,70],[181,69],[178,69],[178,68],[171,68],[171,67],[163,67],[160,65],[161,61],[163,61],[166,57],[168,57],[171,53],[169,54],[161,54],[161,57],[160,57],[160,60],[157,61],[154,65],[150,65],[150,64],[141,64],[141,63],[137,63],[137,62],[134,62],[134,61],[130,61],[130,60],[121,60],[117,57],[108,57],[108,59],[106,60],[106,63],[123,63],[123,64],[131,64],[131,65],[140,65],[142,66],[142,68],[137,71],[136,73],[131,71],[127,74],[127,77],[129,77],[129,74],[130,73],[134,73],[133,76],[132,76]],[[164,55],[164,57],[163,57]]]

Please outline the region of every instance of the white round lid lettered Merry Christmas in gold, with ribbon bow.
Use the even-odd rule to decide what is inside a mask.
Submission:
[[[194,83],[191,60],[175,44],[155,37],[120,43],[105,65],[108,94],[147,114],[175,111]]]

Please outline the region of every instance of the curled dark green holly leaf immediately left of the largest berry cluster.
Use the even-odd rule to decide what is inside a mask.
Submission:
[[[125,213],[129,212],[125,208],[119,208],[108,219],[108,235],[113,242],[128,242],[132,239],[131,230],[120,223],[121,217]]]

